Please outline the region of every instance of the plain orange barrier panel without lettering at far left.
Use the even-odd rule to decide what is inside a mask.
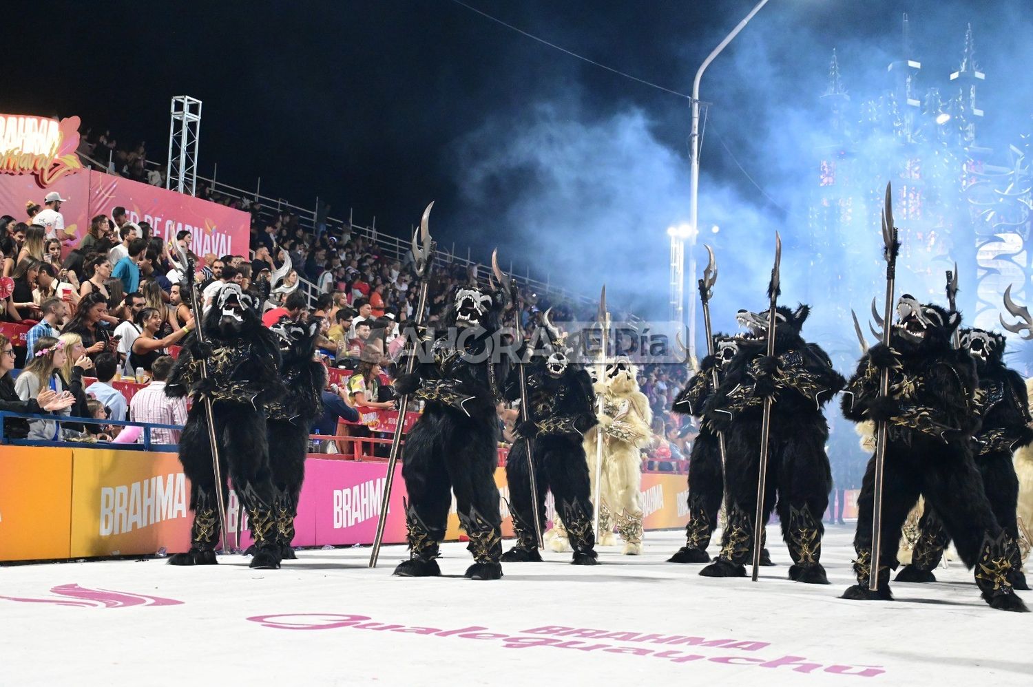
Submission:
[[[0,449],[0,561],[69,557],[72,451]]]

